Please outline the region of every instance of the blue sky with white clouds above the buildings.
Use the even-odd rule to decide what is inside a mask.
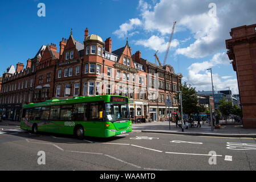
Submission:
[[[37,15],[38,3],[46,5],[46,17]],[[216,15],[210,16],[210,3]],[[112,38],[112,50],[125,46],[128,37],[132,53],[155,63],[159,50],[164,59],[174,21],[177,21],[167,64],[197,90],[210,90],[210,73],[217,90],[230,86],[238,93],[237,77],[227,55],[225,40],[230,29],[254,24],[256,1],[247,0],[95,0],[95,1],[1,1],[0,73],[11,64],[26,65],[42,45],[68,38],[71,28],[76,40],[83,42],[84,30]],[[246,12],[246,13],[241,13]],[[254,18],[253,18],[254,17]],[[58,49],[59,50],[59,49]]]

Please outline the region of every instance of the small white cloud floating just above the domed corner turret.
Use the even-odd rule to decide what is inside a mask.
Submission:
[[[119,30],[113,32],[118,38],[125,38],[127,36],[128,31],[134,30],[135,27],[140,26],[141,21],[138,18],[129,19],[128,23],[123,23],[119,26]]]

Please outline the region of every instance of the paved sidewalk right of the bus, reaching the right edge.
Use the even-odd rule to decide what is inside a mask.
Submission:
[[[201,127],[184,129],[176,127],[175,123],[171,123],[169,130],[169,122],[152,122],[152,123],[138,123],[132,124],[132,131],[141,131],[148,133],[166,133],[166,134],[182,134],[182,135],[197,135],[197,136],[211,136],[211,137],[249,137],[256,138],[256,129],[244,129],[241,124],[222,125],[221,129],[214,129],[212,131],[208,123]]]

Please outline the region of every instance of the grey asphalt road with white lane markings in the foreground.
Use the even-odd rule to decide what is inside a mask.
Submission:
[[[77,140],[0,126],[0,148],[0,170],[256,170],[253,138],[132,132]],[[39,151],[45,165],[38,164]]]

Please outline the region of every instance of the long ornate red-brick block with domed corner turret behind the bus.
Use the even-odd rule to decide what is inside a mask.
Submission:
[[[163,121],[168,117],[165,100],[172,99],[177,111],[176,94],[182,75],[170,65],[158,67],[132,54],[128,40],[112,51],[112,39],[84,33],[83,43],[62,38],[59,53],[55,44],[42,46],[27,67],[18,63],[3,74],[1,111],[9,119],[19,116],[22,105],[51,99],[66,100],[78,96],[114,94],[129,97],[133,120]],[[149,73],[149,75],[148,75]],[[14,114],[13,113],[18,113]]]

